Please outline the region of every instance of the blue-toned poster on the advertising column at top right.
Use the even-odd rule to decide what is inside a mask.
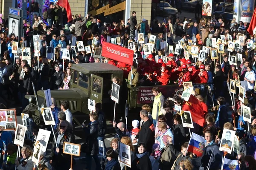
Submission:
[[[253,17],[254,0],[241,0],[241,18],[244,23],[250,23]]]

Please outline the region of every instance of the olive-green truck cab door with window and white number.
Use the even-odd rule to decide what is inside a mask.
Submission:
[[[103,78],[91,74],[91,86],[90,86],[90,99],[95,100],[95,103],[102,103],[102,90],[103,90]]]

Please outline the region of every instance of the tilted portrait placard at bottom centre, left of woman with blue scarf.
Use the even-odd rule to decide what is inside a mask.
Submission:
[[[131,167],[131,147],[129,145],[118,142],[119,162]]]

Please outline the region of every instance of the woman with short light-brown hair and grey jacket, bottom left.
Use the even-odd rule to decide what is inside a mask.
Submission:
[[[17,170],[32,170],[34,162],[32,161],[33,150],[29,146],[23,146],[20,150],[21,157],[15,160]],[[24,164],[26,162],[26,164]]]

